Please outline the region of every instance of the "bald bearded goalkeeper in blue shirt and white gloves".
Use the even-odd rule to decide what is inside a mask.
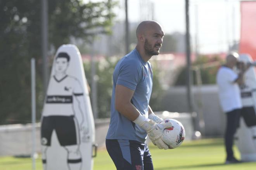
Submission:
[[[153,170],[147,134],[159,149],[168,149],[161,123],[149,106],[153,72],[149,59],[158,55],[164,31],[156,21],[141,22],[137,46],[119,60],[113,72],[111,120],[106,148],[117,170]]]

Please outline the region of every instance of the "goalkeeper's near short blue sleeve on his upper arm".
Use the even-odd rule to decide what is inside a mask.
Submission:
[[[119,68],[116,84],[135,90],[142,75],[142,67],[136,61],[123,61]]]

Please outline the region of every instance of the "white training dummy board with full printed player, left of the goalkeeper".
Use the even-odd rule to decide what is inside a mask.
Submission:
[[[62,45],[42,111],[43,170],[92,170],[94,127],[81,54],[75,45]]]

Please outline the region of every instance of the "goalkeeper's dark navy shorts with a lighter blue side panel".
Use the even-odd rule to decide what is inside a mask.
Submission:
[[[117,170],[153,170],[146,143],[123,139],[106,139],[106,148]]]

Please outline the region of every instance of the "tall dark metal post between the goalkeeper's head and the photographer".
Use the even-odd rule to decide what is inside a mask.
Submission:
[[[187,56],[187,100],[189,112],[193,112],[191,97],[191,69],[190,69],[190,34],[189,34],[189,0],[185,0],[186,11],[186,56]]]

